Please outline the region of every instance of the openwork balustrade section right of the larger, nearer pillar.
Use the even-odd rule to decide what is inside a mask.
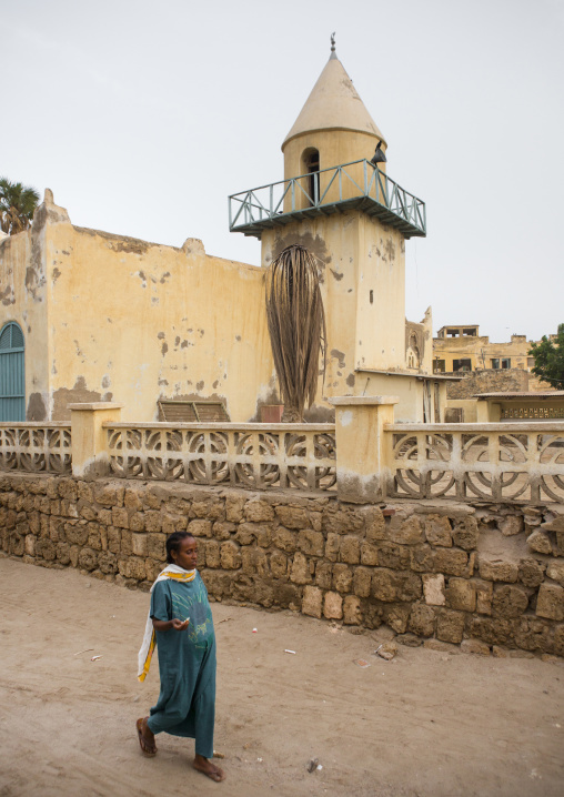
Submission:
[[[387,495],[564,502],[564,423],[386,424]]]

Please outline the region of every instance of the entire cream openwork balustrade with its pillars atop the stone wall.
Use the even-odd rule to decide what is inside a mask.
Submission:
[[[336,432],[333,424],[122,423],[104,420],[105,405],[75,405],[72,426],[1,423],[0,470],[331,491],[355,503],[564,503],[563,422],[394,424],[385,402],[354,401],[338,406],[346,423],[340,416]],[[82,423],[90,415],[99,421]]]

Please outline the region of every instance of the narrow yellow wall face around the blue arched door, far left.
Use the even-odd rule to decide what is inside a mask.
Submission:
[[[44,222],[39,214],[33,230],[0,241],[0,329],[14,321],[23,332],[28,421],[44,421],[48,414]]]

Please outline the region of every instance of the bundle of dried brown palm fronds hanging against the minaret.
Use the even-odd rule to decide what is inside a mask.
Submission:
[[[320,353],[325,374],[325,314],[313,254],[286,246],[266,271],[266,317],[284,403],[282,421],[303,423],[318,391]]]

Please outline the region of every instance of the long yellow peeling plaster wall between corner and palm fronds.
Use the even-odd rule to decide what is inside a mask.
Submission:
[[[48,264],[54,421],[69,402],[150,421],[159,398],[198,396],[246,421],[271,391],[260,269],[71,224],[52,230]]]

